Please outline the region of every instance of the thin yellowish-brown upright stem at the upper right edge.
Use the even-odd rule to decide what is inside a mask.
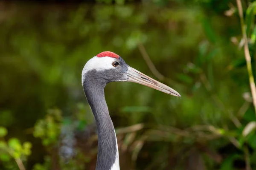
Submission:
[[[254,82],[254,78],[253,78],[251,57],[250,57],[250,52],[249,52],[249,47],[248,47],[247,35],[246,35],[246,31],[245,31],[243,8],[242,8],[241,0],[236,0],[236,3],[237,3],[238,11],[239,11],[241,30],[242,30],[243,40],[244,40],[244,57],[246,60],[247,71],[249,74],[250,88],[251,88],[251,93],[253,96],[253,105],[254,105],[255,114],[256,114],[256,86],[255,86],[255,82]]]

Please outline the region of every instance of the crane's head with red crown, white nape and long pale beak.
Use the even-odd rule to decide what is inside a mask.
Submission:
[[[174,89],[137,71],[125,63],[117,54],[104,51],[91,58],[82,71],[82,84],[87,79],[106,85],[108,82],[136,82],[166,94],[180,96]]]

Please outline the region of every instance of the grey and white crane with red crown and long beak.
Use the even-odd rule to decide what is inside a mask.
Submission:
[[[130,67],[122,57],[111,51],[101,52],[89,59],[82,70],[81,83],[96,122],[96,170],[120,169],[116,133],[104,93],[109,82],[135,82],[180,97],[177,91]]]

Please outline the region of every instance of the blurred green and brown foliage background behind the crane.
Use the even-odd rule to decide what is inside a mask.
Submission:
[[[241,3],[255,77],[256,3]],[[121,170],[255,170],[241,18],[236,0],[0,1],[0,169],[95,169],[81,71],[113,51],[182,96],[107,85]]]

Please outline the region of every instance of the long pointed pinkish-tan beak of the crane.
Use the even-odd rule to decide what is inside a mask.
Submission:
[[[147,75],[141,73],[140,71],[137,71],[136,69],[131,68],[130,66],[128,67],[128,71],[126,72],[126,74],[128,75],[128,79],[125,80],[127,82],[136,82],[141,85],[154,88],[158,91],[162,91],[164,93],[180,97],[180,94],[177,91],[173,90],[167,85],[164,85],[163,83],[158,82],[157,80],[152,79],[151,77],[148,77]]]

